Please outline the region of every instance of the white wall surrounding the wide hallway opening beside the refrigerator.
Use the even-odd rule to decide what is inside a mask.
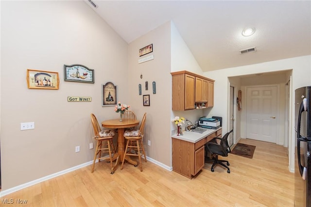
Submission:
[[[214,79],[214,102],[215,104],[212,113],[219,114],[220,116],[228,119],[227,117],[227,103],[228,103],[228,83],[227,77],[231,76],[239,76],[246,74],[256,74],[262,72],[272,72],[272,71],[280,71],[280,70],[288,70],[293,69],[292,73],[292,91],[291,95],[294,97],[294,90],[298,87],[309,86],[311,85],[311,56],[301,56],[296,58],[289,58],[271,62],[265,62],[260,64],[222,69],[222,70],[214,70],[205,72],[204,75]],[[292,99],[293,100],[293,99]],[[290,128],[294,129],[294,102],[292,101],[291,111],[292,111],[292,119]],[[245,123],[241,123],[242,125]],[[223,127],[226,129],[227,124],[224,121]],[[293,172],[294,171],[294,130],[291,131],[290,143],[289,143],[289,168]]]

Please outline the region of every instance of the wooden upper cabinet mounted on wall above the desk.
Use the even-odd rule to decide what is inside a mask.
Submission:
[[[172,109],[183,111],[213,105],[214,87],[208,88],[214,80],[184,71],[172,72]],[[212,91],[211,91],[212,90]],[[210,97],[212,96],[212,97]],[[209,106],[209,99],[212,100]]]

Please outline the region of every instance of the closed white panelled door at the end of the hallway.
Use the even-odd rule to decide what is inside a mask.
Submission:
[[[246,138],[276,143],[277,86],[246,91]]]

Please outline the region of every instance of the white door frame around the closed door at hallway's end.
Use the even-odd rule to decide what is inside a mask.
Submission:
[[[280,84],[269,84],[269,85],[254,85],[254,86],[245,86],[244,88],[244,94],[245,94],[245,98],[242,99],[243,105],[244,105],[244,109],[245,109],[245,121],[246,121],[246,117],[247,117],[247,105],[246,105],[246,100],[247,100],[247,88],[249,87],[270,87],[270,86],[276,86],[276,92],[277,92],[277,97],[276,97],[276,116],[278,117],[278,119],[276,119],[276,144],[281,144],[283,145],[284,143],[284,138],[281,140],[281,138],[279,137],[279,121],[280,121]],[[244,127],[244,135],[245,138],[246,137],[246,125]]]

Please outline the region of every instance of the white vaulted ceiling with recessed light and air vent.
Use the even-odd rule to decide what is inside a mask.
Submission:
[[[311,54],[310,0],[93,1],[128,43],[172,20],[203,71]],[[255,34],[242,36],[245,27]],[[250,47],[257,52],[239,52]]]

